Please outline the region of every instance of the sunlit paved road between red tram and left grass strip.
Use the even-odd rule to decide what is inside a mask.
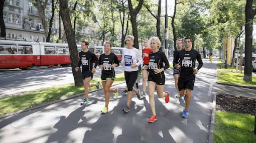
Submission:
[[[173,61],[172,58],[169,59]],[[123,67],[115,68],[116,74],[123,73]],[[93,78],[101,76],[96,68]],[[15,70],[0,72],[0,97],[21,94],[42,88],[74,83],[71,67]]]

